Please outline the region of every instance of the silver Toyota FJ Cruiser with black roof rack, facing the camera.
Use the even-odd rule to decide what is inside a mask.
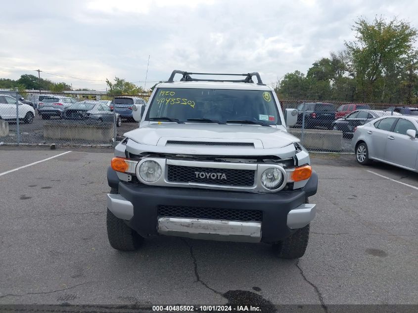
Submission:
[[[303,256],[318,176],[286,131],[297,110],[283,116],[258,73],[173,71],[132,109],[139,128],[124,134],[107,171],[113,248],[135,250],[143,238],[170,235],[265,242],[281,258]]]

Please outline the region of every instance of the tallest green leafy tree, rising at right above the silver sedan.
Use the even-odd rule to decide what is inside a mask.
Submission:
[[[412,49],[417,30],[408,22],[396,18],[387,21],[382,17],[376,17],[371,23],[359,18],[353,30],[357,40],[345,42],[345,46],[350,54],[351,75],[356,79],[358,98],[382,101],[385,90],[393,86],[403,57]]]

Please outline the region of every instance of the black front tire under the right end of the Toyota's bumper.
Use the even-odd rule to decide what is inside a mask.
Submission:
[[[297,259],[303,257],[308,246],[309,224],[299,228],[289,237],[273,245],[279,258]]]

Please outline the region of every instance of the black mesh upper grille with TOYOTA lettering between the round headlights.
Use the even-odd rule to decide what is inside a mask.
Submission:
[[[248,187],[254,185],[255,171],[252,170],[216,169],[177,165],[168,165],[167,167],[167,180],[171,182],[196,182],[212,185]]]

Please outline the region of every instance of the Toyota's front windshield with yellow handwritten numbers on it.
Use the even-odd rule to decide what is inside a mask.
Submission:
[[[272,92],[263,90],[159,88],[146,120],[159,117],[182,122],[190,119],[193,122],[248,120],[281,124]]]

